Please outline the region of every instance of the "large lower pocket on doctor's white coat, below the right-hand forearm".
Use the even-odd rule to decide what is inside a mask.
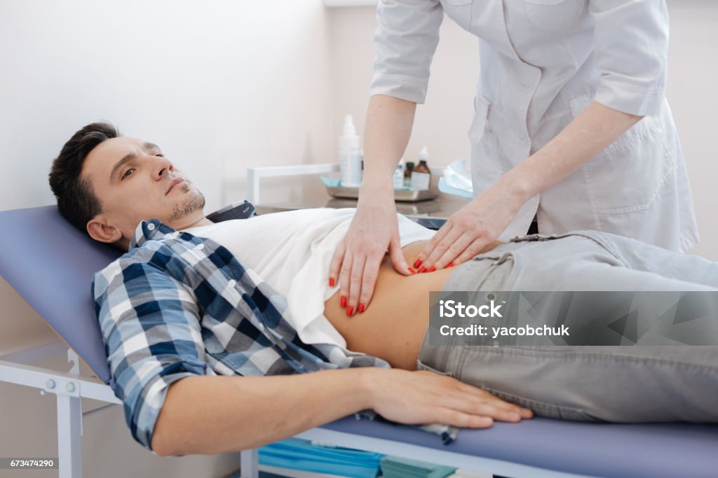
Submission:
[[[576,118],[592,102],[582,95],[569,102]],[[645,116],[582,168],[598,214],[642,211],[651,207],[676,164],[663,120]]]

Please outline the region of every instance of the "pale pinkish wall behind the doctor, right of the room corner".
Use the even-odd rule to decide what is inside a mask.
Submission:
[[[669,52],[668,100],[684,145],[693,188],[701,243],[691,252],[718,260],[718,2],[669,0],[671,48]],[[376,29],[373,7],[330,11],[332,74],[335,102],[332,126],[339,134],[342,116],[355,115],[363,133],[373,61],[372,37]],[[478,75],[475,37],[444,19],[441,41],[432,64],[426,103],[416,113],[414,131],[405,158],[416,158],[423,145],[432,152],[429,166],[445,166],[469,156],[466,132],[472,115],[472,99]],[[411,160],[410,160],[411,161]]]

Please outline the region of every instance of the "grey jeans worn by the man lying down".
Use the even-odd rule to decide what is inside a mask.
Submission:
[[[457,267],[452,290],[714,291],[718,264],[614,234],[534,234]],[[716,346],[432,346],[427,333],[417,366],[554,419],[718,422]]]

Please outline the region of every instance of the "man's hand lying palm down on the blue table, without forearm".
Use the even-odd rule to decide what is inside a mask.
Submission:
[[[371,375],[373,410],[402,424],[487,428],[494,420],[516,422],[533,416],[528,408],[449,376],[396,368],[377,369]]]

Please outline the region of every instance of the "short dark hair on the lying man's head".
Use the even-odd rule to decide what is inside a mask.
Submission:
[[[80,231],[87,232],[87,223],[100,214],[102,204],[95,196],[87,178],[80,178],[85,158],[104,140],[118,138],[120,132],[111,123],[90,123],[70,138],[52,161],[50,188],[57,198],[57,209]]]

